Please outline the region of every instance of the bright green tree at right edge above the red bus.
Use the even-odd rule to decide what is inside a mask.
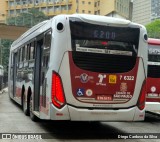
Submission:
[[[147,24],[146,29],[148,32],[148,37],[160,38],[160,20],[155,20],[150,24]]]

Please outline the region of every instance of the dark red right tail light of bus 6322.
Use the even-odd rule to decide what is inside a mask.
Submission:
[[[146,81],[143,82],[140,96],[137,103],[137,106],[140,110],[143,110],[145,108],[145,101],[146,101]]]

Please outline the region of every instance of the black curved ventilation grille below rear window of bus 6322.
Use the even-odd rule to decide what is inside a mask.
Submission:
[[[101,73],[123,73],[133,69],[136,57],[72,52],[74,63],[81,69]]]

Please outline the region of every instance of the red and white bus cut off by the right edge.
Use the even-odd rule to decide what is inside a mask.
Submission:
[[[146,111],[160,112],[160,39],[148,38]]]

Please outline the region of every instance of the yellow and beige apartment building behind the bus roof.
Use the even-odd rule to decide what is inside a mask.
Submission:
[[[131,0],[0,0],[0,19],[37,8],[45,15],[85,13],[130,19]],[[0,11],[1,13],[1,11]]]

